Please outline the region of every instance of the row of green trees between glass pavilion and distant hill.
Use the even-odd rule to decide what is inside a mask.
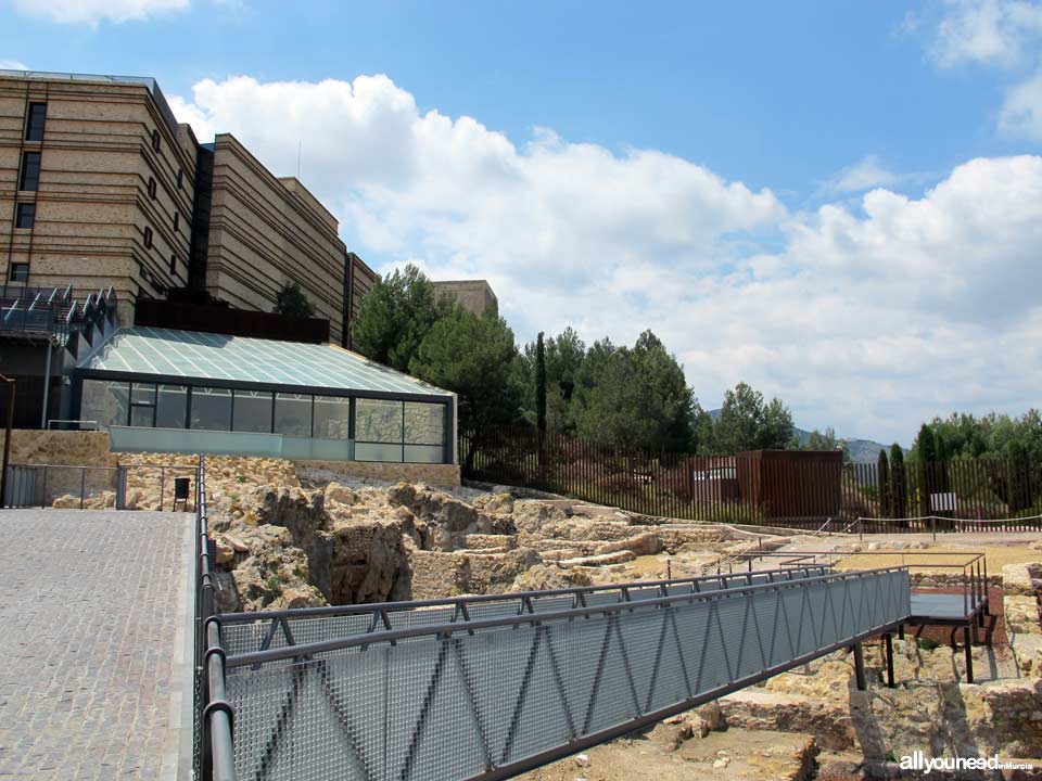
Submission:
[[[571,328],[519,347],[506,321],[446,297],[416,266],[395,270],[363,298],[352,327],[372,360],[459,398],[460,425],[526,423],[594,441],[699,454],[799,447],[792,414],[746,383],[711,414],[684,369],[651,331],[633,346],[586,345]],[[817,437],[817,439],[815,439]],[[815,444],[840,444],[815,432]]]

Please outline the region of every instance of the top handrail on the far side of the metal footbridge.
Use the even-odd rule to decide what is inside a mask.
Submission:
[[[315,618],[315,617],[329,617],[329,616],[347,616],[347,615],[370,615],[379,613],[399,613],[403,611],[427,609],[427,607],[455,607],[455,606],[471,606],[483,604],[486,602],[512,602],[517,600],[520,603],[524,603],[526,600],[533,599],[547,599],[554,597],[585,597],[592,593],[598,592],[619,592],[619,603],[620,604],[632,604],[631,600],[626,596],[628,591],[640,591],[645,589],[659,589],[668,590],[676,586],[691,586],[691,593],[712,593],[711,591],[704,592],[697,590],[698,584],[701,582],[720,582],[724,585],[724,580],[745,580],[749,582],[750,576],[763,576],[766,575],[768,578],[774,576],[785,576],[788,580],[800,579],[806,580],[809,578],[793,578],[792,573],[799,571],[821,571],[824,573],[826,569],[830,568],[828,564],[814,564],[808,565],[805,567],[791,567],[788,569],[761,569],[752,573],[741,572],[735,574],[722,574],[722,575],[702,575],[699,577],[691,578],[675,578],[671,580],[635,580],[633,582],[624,584],[602,584],[599,586],[575,586],[572,588],[559,588],[559,589],[544,589],[535,591],[508,591],[506,593],[498,594],[471,594],[468,597],[443,597],[439,599],[427,599],[427,600],[404,600],[399,602],[373,602],[368,604],[348,604],[348,605],[323,605],[321,607],[295,607],[278,611],[252,611],[252,612],[242,612],[242,613],[223,613],[219,617],[219,620],[223,625],[225,624],[250,624],[255,622],[270,620],[272,618]],[[819,577],[819,576],[818,576]],[[733,587],[727,587],[733,588]],[[666,596],[666,594],[663,594]],[[681,594],[684,596],[684,594]],[[581,601],[581,600],[580,600]],[[637,600],[639,602],[647,602],[649,600]]]

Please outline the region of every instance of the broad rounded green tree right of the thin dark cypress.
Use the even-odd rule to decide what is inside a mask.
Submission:
[[[694,396],[676,358],[645,331],[632,347],[595,342],[577,372],[576,431],[596,441],[685,450]]]

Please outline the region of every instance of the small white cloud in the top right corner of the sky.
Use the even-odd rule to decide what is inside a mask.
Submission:
[[[1026,0],[946,0],[930,43],[942,67],[962,63],[1013,65],[1042,35],[1042,4]]]

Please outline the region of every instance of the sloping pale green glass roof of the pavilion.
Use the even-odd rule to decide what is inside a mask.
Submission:
[[[450,396],[335,345],[141,325],[119,329],[79,368],[194,381]]]

